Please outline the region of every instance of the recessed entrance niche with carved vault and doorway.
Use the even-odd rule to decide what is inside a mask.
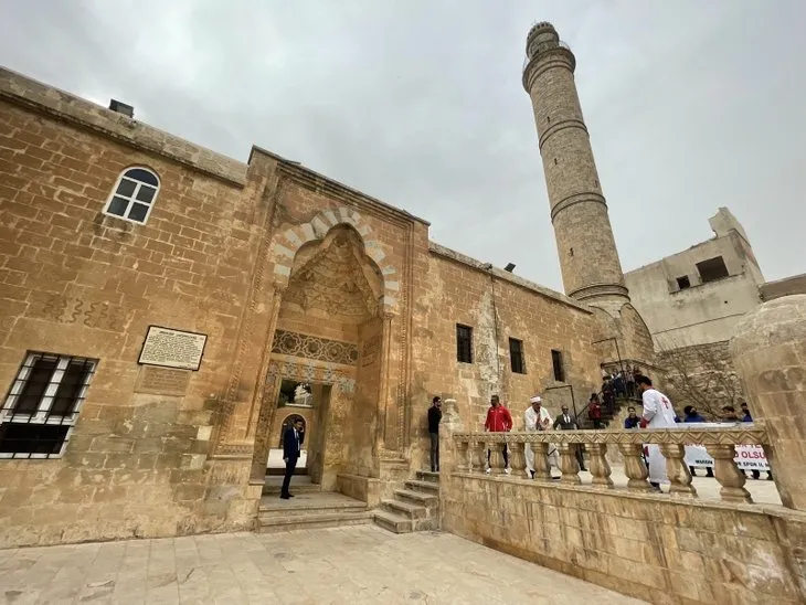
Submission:
[[[383,276],[361,236],[339,225],[297,251],[283,294],[272,342],[279,375],[269,379],[264,401],[273,421],[258,439],[268,442],[268,455],[282,422],[303,416],[307,473],[326,490],[336,488],[339,474],[378,475],[383,293]]]

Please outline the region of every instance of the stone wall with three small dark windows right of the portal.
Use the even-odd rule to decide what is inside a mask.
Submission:
[[[596,322],[586,306],[435,244],[421,279],[427,287],[413,331],[413,466],[427,466],[426,412],[436,394],[459,401],[465,426],[479,431],[490,395],[499,394],[522,429],[533,394],[545,395],[556,415],[563,403],[572,405],[568,386],[580,410],[598,389],[598,351],[591,344]],[[457,361],[457,323],[473,328],[473,363]],[[526,373],[512,372],[510,338],[523,343]],[[562,353],[563,382],[554,380],[552,350]]]

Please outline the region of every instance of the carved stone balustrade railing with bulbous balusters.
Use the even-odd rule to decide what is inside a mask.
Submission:
[[[746,502],[753,500],[744,488],[745,475],[734,461],[736,445],[764,446],[767,461],[773,465],[772,448],[768,447],[766,431],[759,425],[707,428],[655,428],[621,431],[553,431],[529,433],[454,433],[456,448],[455,471],[487,471],[487,452],[490,452],[489,469],[491,475],[505,471],[502,444],[507,444],[509,463],[515,477],[526,476],[526,445],[534,452],[534,479],[551,481],[549,466],[550,447],[560,453],[560,482],[579,485],[580,465],[576,448],[584,446],[590,459],[592,486],[614,489],[611,465],[607,461],[607,446],[615,445],[624,456],[624,470],[627,476],[627,490],[647,492],[653,488],[648,481],[648,469],[644,461],[644,445],[657,444],[666,458],[666,469],[672,496],[696,498],[697,490],[691,485],[691,474],[686,464],[686,446],[704,446],[714,460],[713,474],[721,486],[723,501]]]

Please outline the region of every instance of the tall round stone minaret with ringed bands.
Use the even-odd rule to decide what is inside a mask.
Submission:
[[[565,294],[611,314],[629,302],[574,83],[576,59],[551,23],[527,36],[532,99]]]

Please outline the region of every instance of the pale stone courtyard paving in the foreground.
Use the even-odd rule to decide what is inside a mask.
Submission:
[[[374,526],[0,551],[0,603],[641,603],[447,533]]]

